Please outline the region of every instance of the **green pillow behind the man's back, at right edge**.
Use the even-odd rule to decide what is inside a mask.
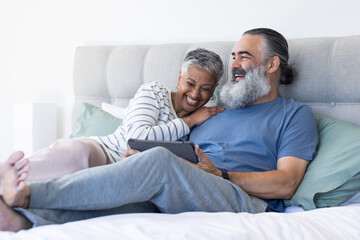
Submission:
[[[360,192],[360,127],[321,114],[315,119],[317,154],[285,206],[333,207]]]

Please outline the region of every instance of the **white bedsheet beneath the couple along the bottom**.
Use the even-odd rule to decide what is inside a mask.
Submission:
[[[293,213],[123,214],[0,232],[0,239],[360,239],[360,204]]]

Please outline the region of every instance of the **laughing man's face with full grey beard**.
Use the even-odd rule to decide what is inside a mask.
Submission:
[[[233,79],[220,91],[220,101],[229,108],[242,108],[264,97],[270,91],[265,64],[262,63],[263,40],[244,36],[233,52]]]

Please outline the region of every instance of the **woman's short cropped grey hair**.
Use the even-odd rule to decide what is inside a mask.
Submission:
[[[185,73],[189,67],[198,67],[214,74],[216,83],[219,82],[224,73],[224,65],[220,56],[204,48],[198,48],[186,54],[181,72]]]

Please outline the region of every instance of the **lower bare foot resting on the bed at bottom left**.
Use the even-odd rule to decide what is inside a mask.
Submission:
[[[17,232],[31,227],[32,223],[26,217],[12,210],[0,198],[0,231]]]

